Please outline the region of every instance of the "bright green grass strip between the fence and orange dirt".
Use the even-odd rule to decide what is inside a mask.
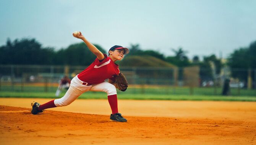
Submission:
[[[63,96],[65,93],[61,93]],[[11,98],[58,98],[54,92],[0,92],[0,97]],[[211,100],[211,101],[256,101],[253,96],[220,96],[220,95],[166,95],[166,94],[127,94],[118,93],[119,99],[133,100]],[[103,92],[86,92],[79,99],[107,99]]]

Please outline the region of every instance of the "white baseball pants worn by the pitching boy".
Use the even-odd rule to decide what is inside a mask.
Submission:
[[[83,83],[83,81],[79,80],[78,77],[75,76],[71,80],[70,87],[66,94],[62,98],[54,100],[54,104],[57,107],[70,105],[70,103],[75,101],[76,98],[87,91],[106,92],[108,96],[117,94],[115,86],[109,82],[102,82],[100,84],[93,84],[89,86],[83,85]]]

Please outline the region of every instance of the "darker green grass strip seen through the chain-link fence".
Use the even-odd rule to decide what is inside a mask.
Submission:
[[[1,92],[24,92],[24,93],[32,93],[32,92],[51,92],[54,93],[57,90],[57,87],[49,85],[48,87],[44,86],[20,86],[20,85],[2,85],[0,87]],[[65,91],[65,90],[63,90]],[[256,96],[256,89],[230,89],[232,96]],[[122,93],[122,92],[121,92]],[[173,86],[154,86],[154,87],[145,87],[145,86],[137,86],[137,87],[129,87],[125,94],[130,95],[205,95],[205,96],[216,96],[221,95],[222,88],[207,88],[207,87],[195,87],[193,89],[189,87],[173,87]]]

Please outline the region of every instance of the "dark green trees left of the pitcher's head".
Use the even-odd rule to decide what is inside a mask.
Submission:
[[[105,50],[95,45],[101,52]],[[40,64],[40,65],[89,65],[96,58],[84,43],[77,43],[55,50],[42,47],[35,39],[21,39],[0,47],[0,64]]]

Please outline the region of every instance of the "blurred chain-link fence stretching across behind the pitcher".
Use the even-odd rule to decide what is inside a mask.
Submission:
[[[1,92],[55,92],[60,79],[70,79],[87,66],[0,65]],[[198,66],[186,68],[120,67],[129,89],[126,93],[256,96],[256,69],[223,68],[220,74]],[[210,72],[210,73],[204,73]],[[235,78],[231,77],[235,76]]]

